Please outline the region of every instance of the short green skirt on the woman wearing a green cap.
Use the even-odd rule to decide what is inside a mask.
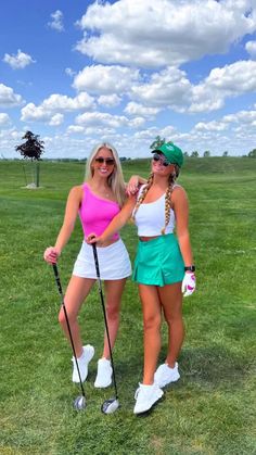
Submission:
[[[132,280],[141,285],[165,286],[182,281],[184,262],[174,233],[143,242],[139,240]]]

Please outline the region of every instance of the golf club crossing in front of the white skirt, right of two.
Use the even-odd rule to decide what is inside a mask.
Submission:
[[[111,347],[111,338],[110,338],[108,325],[107,325],[107,319],[106,319],[106,311],[105,311],[104,298],[103,298],[103,292],[102,292],[100,267],[99,267],[95,243],[92,243],[92,250],[93,250],[95,270],[97,270],[98,289],[99,289],[99,294],[100,294],[100,298],[101,298],[101,304],[102,304],[104,321],[105,321],[105,329],[106,329],[106,338],[107,338],[107,343],[108,343],[108,349],[110,349],[110,354],[111,354],[111,366],[112,366],[112,370],[113,370],[113,382],[114,382],[114,388],[115,388],[115,397],[110,399],[110,400],[105,400],[104,403],[101,406],[101,410],[102,410],[103,414],[113,414],[119,407],[118,395],[117,395],[117,387],[116,387],[116,375],[115,375],[115,367],[114,367],[114,361],[113,361],[113,354],[112,354],[112,347]]]

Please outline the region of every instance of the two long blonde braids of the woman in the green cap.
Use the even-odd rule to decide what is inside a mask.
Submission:
[[[175,187],[175,181],[176,181],[176,178],[178,177],[178,175],[179,175],[179,166],[175,165],[175,170],[174,170],[174,173],[171,173],[169,175],[168,187],[167,187],[167,190],[165,192],[165,226],[161,229],[161,233],[163,236],[165,235],[166,226],[168,226],[168,223],[170,220],[170,208],[172,208],[171,193],[172,193],[172,190],[174,190],[174,187]],[[139,210],[140,204],[144,201],[145,194],[148,193],[149,189],[152,187],[153,179],[154,179],[154,174],[152,173],[152,174],[150,174],[148,182],[145,184],[143,190],[141,191],[140,197],[138,198],[138,201],[136,203],[133,214],[132,214],[132,220],[135,220],[135,216],[136,216],[136,213]]]

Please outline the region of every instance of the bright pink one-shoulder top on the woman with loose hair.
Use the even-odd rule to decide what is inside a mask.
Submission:
[[[94,194],[87,184],[82,185],[84,198],[79,208],[79,216],[85,238],[94,232],[101,236],[112,222],[114,216],[120,212],[117,202],[107,201]],[[114,233],[113,240],[118,240],[118,232]]]

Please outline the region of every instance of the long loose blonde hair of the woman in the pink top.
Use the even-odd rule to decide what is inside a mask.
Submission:
[[[102,143],[93,147],[93,149],[92,149],[92,151],[91,151],[91,153],[90,153],[90,155],[87,160],[85,181],[88,181],[93,177],[92,162],[93,162],[97,153],[103,148],[108,149],[111,151],[114,160],[115,160],[115,166],[114,166],[113,173],[107,178],[107,185],[111,187],[113,193],[115,194],[115,197],[117,199],[118,205],[121,207],[125,203],[125,200],[126,200],[125,180],[124,180],[124,176],[123,176],[123,170],[121,170],[118,153],[117,153],[116,149],[111,143],[102,142]]]

